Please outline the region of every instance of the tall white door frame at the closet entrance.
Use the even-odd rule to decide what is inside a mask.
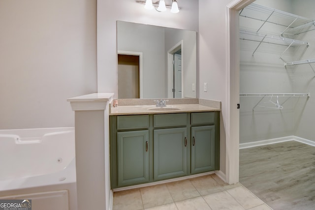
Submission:
[[[233,0],[225,7],[226,25],[226,168],[225,181],[239,181],[240,113],[240,46],[238,11],[254,0]]]

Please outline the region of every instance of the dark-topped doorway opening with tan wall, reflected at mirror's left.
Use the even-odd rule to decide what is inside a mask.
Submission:
[[[140,98],[139,56],[118,54],[118,98]]]

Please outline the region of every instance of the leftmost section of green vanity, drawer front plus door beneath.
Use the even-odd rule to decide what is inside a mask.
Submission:
[[[111,187],[150,181],[149,115],[110,116]]]

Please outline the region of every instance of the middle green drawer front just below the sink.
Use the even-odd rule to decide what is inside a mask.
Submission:
[[[153,116],[154,127],[181,126],[187,124],[187,113],[157,114]]]

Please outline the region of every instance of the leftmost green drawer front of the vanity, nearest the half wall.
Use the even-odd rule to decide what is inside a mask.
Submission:
[[[117,116],[117,129],[139,129],[149,127],[148,115]]]

